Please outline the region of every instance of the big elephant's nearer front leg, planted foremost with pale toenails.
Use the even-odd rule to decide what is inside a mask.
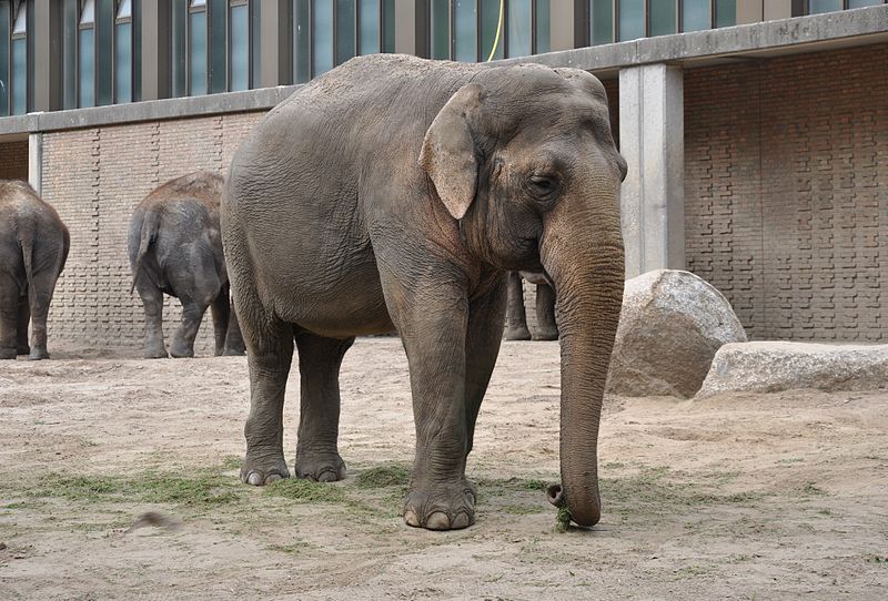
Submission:
[[[386,303],[407,353],[416,427],[404,520],[430,530],[465,528],[475,521],[465,478],[465,295],[445,287],[386,291]]]

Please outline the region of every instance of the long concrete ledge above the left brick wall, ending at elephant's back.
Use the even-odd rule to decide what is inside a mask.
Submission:
[[[297,88],[299,85],[280,85],[278,88],[245,90],[243,92],[171,98],[130,104],[8,116],[0,119],[0,136],[27,132],[77,130],[118,123],[138,123],[140,121],[268,111],[292,94]]]

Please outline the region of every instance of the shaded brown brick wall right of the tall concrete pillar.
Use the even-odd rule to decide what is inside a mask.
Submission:
[[[688,268],[754,338],[888,340],[888,44],[685,73]]]

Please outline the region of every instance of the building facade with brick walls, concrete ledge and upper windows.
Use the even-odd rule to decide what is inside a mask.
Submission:
[[[0,179],[71,230],[51,335],[139,345],[132,207],[380,51],[595,73],[627,276],[687,268],[753,338],[888,339],[888,7],[855,0],[0,0]]]

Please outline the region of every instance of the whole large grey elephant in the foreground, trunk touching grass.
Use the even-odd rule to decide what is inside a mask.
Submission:
[[[506,308],[505,272],[558,291],[562,477],[599,517],[597,436],[623,296],[626,163],[601,82],[577,70],[356,58],[272,110],[238,150],[222,237],[246,343],[241,478],[289,477],[284,388],[299,349],[296,476],[345,476],[339,370],[354,337],[401,335],[416,451],[404,519],[474,522],[465,477]]]

